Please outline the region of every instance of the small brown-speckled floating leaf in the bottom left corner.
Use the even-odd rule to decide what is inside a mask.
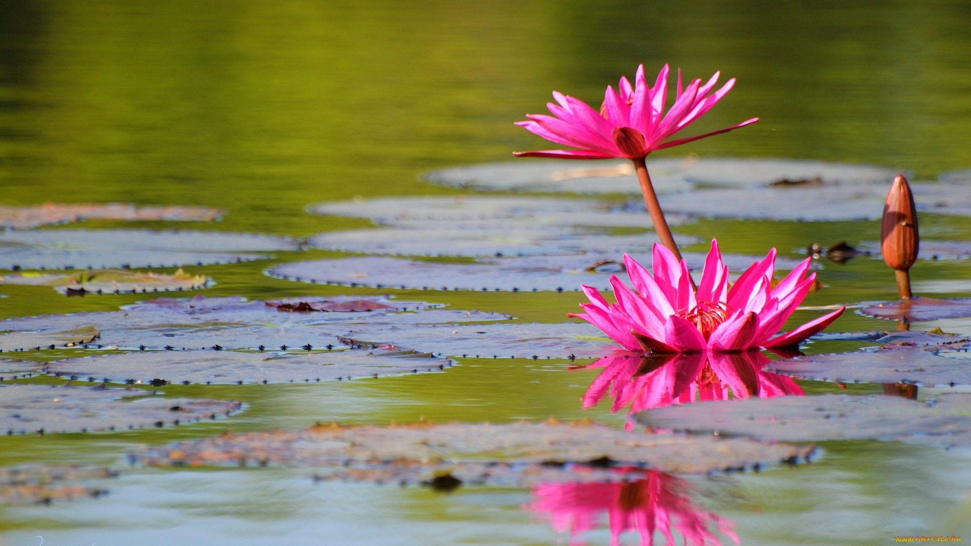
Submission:
[[[107,495],[92,480],[117,477],[117,472],[96,466],[16,466],[0,468],[0,504],[49,504],[80,496]]]

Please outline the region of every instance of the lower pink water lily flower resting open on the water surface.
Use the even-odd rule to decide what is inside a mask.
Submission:
[[[624,255],[634,290],[616,275],[610,278],[616,303],[608,303],[592,287],[583,286],[590,303],[570,314],[599,327],[628,351],[641,353],[734,352],[793,347],[843,314],[842,307],[785,334],[776,335],[813,283],[806,276],[811,258],[796,266],[773,287],[776,250],[753,263],[729,287],[728,268],[717,240],[705,260],[697,289],[687,264],[661,245],[653,247],[653,275]]]

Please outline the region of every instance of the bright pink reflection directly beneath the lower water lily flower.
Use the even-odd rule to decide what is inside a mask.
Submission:
[[[804,395],[792,378],[762,371],[769,358],[757,350],[739,353],[686,353],[641,356],[617,350],[586,366],[603,368],[584,394],[584,408],[595,406],[609,390],[611,411],[725,400],[731,396]]]

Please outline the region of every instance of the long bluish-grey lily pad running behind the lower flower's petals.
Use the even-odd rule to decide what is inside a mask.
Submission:
[[[684,253],[688,264],[700,268],[704,256]],[[650,255],[634,256],[651,267]],[[722,255],[732,271],[744,271],[758,259],[752,256]],[[644,258],[642,261],[641,258]],[[797,260],[779,258],[779,269],[791,269]],[[581,285],[611,290],[610,276],[621,275],[622,255],[610,256],[527,256],[481,259],[479,263],[442,263],[391,257],[362,256],[296,261],[275,265],[267,274],[288,280],[411,290],[516,290],[577,291]]]

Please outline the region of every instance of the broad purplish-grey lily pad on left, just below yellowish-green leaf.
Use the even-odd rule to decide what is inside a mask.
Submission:
[[[319,298],[297,298],[315,301]],[[351,301],[332,297],[333,302]],[[376,302],[387,300],[375,299]],[[262,301],[239,297],[189,300],[159,298],[121,311],[48,315],[9,319],[0,329],[0,349],[52,348],[93,342],[98,347],[127,349],[277,349],[323,348],[339,344],[339,335],[361,325],[415,325],[487,322],[509,319],[499,313],[425,309],[419,302],[388,303],[392,310],[365,313],[292,313]],[[418,312],[391,312],[421,308]],[[84,326],[78,331],[77,328]],[[414,347],[411,344],[403,346]]]

